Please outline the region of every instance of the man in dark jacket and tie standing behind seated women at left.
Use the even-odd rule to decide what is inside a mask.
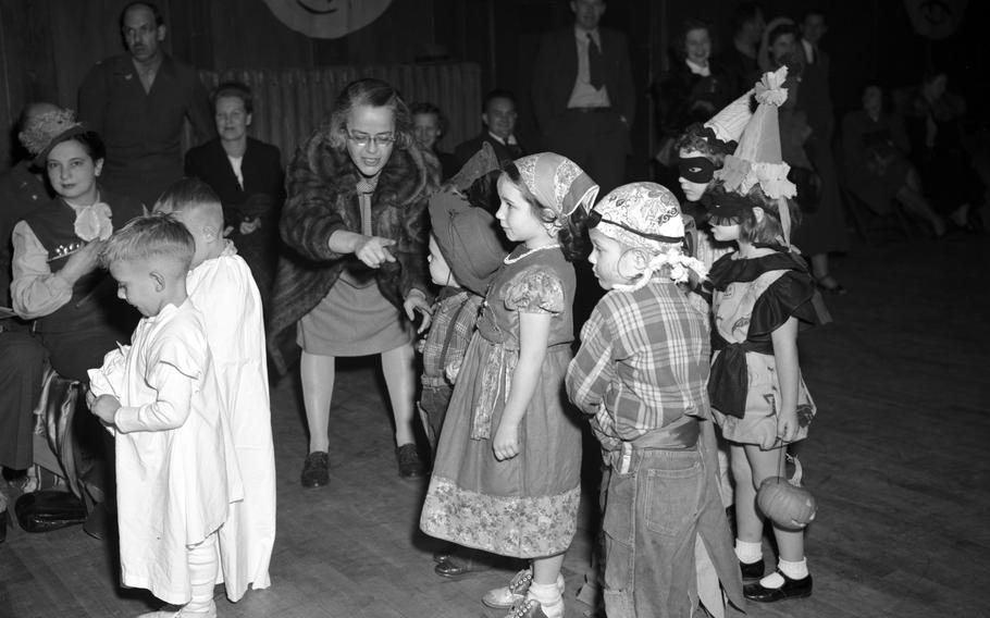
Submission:
[[[162,51],[165,24],[150,2],[121,13],[127,53],[96,64],[79,86],[79,120],[107,145],[100,182],[148,210],[182,177],[186,119],[199,140],[213,136],[210,101],[196,70]]]

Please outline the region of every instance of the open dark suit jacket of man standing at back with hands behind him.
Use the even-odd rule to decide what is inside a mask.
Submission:
[[[629,63],[629,44],[626,35],[608,28],[598,28],[602,54],[605,57],[605,86],[611,109],[626,118],[632,126],[635,115],[635,88]],[[567,103],[578,78],[578,42],[574,27],[544,36],[533,67],[533,111],[544,135],[553,132],[554,124],[567,112]]]

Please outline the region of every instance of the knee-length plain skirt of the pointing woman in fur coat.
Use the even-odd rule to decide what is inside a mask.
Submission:
[[[299,320],[296,342],[308,354],[367,356],[412,342],[413,330],[378,283],[342,275],[323,300]]]

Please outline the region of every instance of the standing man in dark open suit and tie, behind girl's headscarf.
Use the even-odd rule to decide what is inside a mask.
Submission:
[[[635,90],[626,35],[599,28],[604,0],[572,0],[574,25],[546,35],[533,72],[533,108],[548,150],[602,187],[626,181]]]

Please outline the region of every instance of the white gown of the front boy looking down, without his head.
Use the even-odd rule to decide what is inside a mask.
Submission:
[[[132,345],[89,370],[95,395],[114,395],[117,522],[123,584],[183,605],[187,546],[227,520],[243,485],[202,316],[186,300],[143,319]]]

